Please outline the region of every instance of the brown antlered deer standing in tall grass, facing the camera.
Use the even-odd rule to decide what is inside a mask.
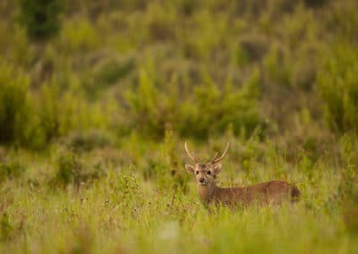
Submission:
[[[215,183],[217,174],[221,171],[222,165],[219,164],[227,153],[229,142],[227,142],[224,153],[218,157],[218,153],[202,164],[188,149],[185,142],[185,150],[195,165],[186,164],[186,170],[195,174],[198,184],[200,199],[205,205],[222,204],[229,207],[243,206],[252,204],[268,205],[281,204],[283,201],[298,201],[300,199],[300,190],[292,184],[285,181],[260,182],[258,184],[246,187],[220,188]]]

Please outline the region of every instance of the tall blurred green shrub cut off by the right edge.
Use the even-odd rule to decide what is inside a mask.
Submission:
[[[331,49],[330,49],[331,50]],[[341,45],[327,53],[318,74],[328,125],[334,131],[358,132],[358,50]]]

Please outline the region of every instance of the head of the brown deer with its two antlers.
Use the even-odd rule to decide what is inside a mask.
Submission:
[[[200,186],[208,186],[214,184],[214,180],[216,175],[220,172],[222,165],[219,164],[227,153],[227,149],[229,148],[229,142],[227,142],[226,148],[224,153],[218,157],[218,153],[209,160],[207,163],[201,163],[200,159],[194,156],[186,145],[185,142],[185,151],[188,154],[188,156],[192,159],[194,165],[186,164],[185,168],[186,170],[191,173],[195,174],[196,182]]]

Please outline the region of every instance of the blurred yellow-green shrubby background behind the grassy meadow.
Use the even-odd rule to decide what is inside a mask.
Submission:
[[[334,152],[358,131],[357,5],[2,0],[0,144],[121,147],[170,133]]]

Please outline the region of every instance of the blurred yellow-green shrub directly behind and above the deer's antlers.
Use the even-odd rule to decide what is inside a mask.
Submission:
[[[258,110],[260,96],[260,73],[255,70],[243,87],[228,82],[219,89],[210,80],[194,89],[191,100],[181,107],[183,120],[180,133],[207,139],[210,135],[223,134],[228,128],[234,135],[250,137],[258,125],[265,127]],[[244,132],[244,133],[243,133]]]

